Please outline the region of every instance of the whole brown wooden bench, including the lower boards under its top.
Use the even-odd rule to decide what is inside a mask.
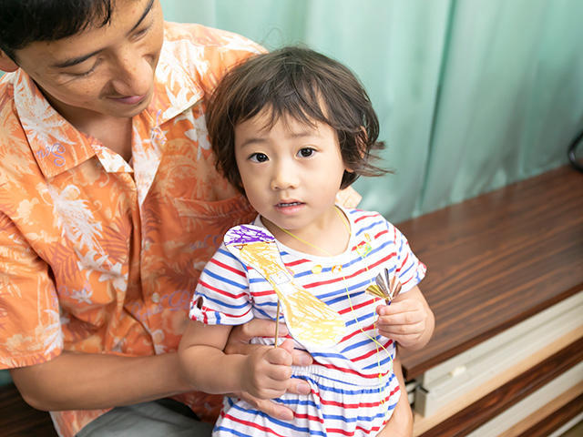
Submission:
[[[424,350],[402,354],[408,380],[423,380],[583,290],[583,174],[572,168],[548,171],[398,227],[429,268],[421,289],[437,321]],[[514,376],[493,374],[503,383],[491,383],[474,401],[465,396],[433,418],[415,413],[415,435],[479,430],[575,369],[582,358],[581,337],[580,330],[570,330],[545,351],[533,345],[532,356],[511,369]],[[583,411],[581,391],[557,393],[546,409],[506,435],[548,435]],[[26,406],[14,386],[0,389],[0,410],[2,435],[56,435],[48,414]]]

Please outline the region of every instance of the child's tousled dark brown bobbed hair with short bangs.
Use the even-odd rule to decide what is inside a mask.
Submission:
[[[299,122],[326,123],[336,131],[345,171],[340,188],[360,175],[387,171],[373,166],[379,122],[371,100],[353,73],[339,62],[302,47],[283,47],[252,56],[224,76],[210,98],[207,127],[217,158],[217,169],[244,193],[235,161],[235,127],[259,114],[271,112],[266,128],[281,117]]]

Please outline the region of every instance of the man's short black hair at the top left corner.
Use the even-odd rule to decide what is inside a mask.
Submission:
[[[109,23],[115,0],[0,0],[0,48],[15,51]]]

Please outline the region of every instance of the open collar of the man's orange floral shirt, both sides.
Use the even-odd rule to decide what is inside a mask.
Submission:
[[[195,75],[182,66],[175,54],[186,48],[180,41],[165,41],[154,77],[154,94],[148,108],[136,117],[150,132],[192,107],[203,95]],[[15,107],[28,144],[45,178],[53,178],[87,159],[97,156],[107,171],[117,171],[119,159],[100,142],[73,127],[46,100],[35,82],[23,70],[15,72]],[[107,159],[102,159],[107,157]],[[123,159],[121,159],[123,161]],[[115,161],[115,162],[114,162]],[[124,161],[125,162],[125,161]],[[113,163],[113,164],[112,164]],[[112,165],[110,165],[112,164]]]

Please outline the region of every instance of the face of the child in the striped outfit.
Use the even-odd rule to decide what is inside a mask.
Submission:
[[[336,132],[292,117],[270,129],[267,119],[263,111],[235,127],[235,158],[247,198],[264,219],[283,229],[326,226],[344,170],[350,171]]]

